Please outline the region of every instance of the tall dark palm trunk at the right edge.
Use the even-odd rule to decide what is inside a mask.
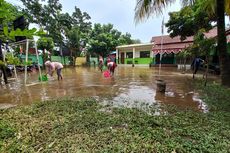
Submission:
[[[225,0],[216,0],[217,3],[217,28],[218,52],[220,58],[221,84],[230,87],[230,55],[227,53],[225,35]]]

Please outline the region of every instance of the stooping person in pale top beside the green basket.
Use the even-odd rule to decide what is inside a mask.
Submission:
[[[53,76],[54,71],[57,70],[58,80],[63,79],[61,74],[63,65],[61,63],[46,61],[45,66],[46,66],[46,75],[49,74],[50,76]]]

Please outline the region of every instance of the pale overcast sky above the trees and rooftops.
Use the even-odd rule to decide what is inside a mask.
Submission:
[[[21,5],[20,0],[6,0],[13,4]],[[92,23],[114,25],[114,28],[123,34],[128,32],[133,39],[140,39],[143,43],[148,43],[152,36],[161,35],[161,23],[163,15],[160,17],[150,17],[146,22],[134,23],[134,9],[136,0],[60,0],[63,11],[72,14],[77,6],[82,12],[87,12],[91,16]],[[164,21],[168,20],[168,12],[179,11],[179,1],[164,12]],[[164,32],[166,33],[166,29]]]

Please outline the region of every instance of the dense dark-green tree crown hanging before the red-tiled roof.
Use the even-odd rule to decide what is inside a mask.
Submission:
[[[169,13],[170,19],[166,27],[170,36],[180,36],[181,40],[185,40],[186,37],[195,35],[200,29],[209,31],[214,17],[210,17],[201,8],[202,5],[197,1],[193,6],[186,6],[178,12]]]

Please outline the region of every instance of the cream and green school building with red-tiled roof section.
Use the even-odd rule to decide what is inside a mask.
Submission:
[[[217,28],[205,33],[207,38],[217,36]],[[230,42],[230,30],[226,31],[227,42]],[[149,44],[133,44],[117,46],[116,59],[118,64],[158,65],[160,54],[163,66],[176,66],[176,54],[193,44],[194,37],[181,41],[180,37],[171,38],[169,35],[154,36]],[[229,47],[230,48],[230,47]]]

